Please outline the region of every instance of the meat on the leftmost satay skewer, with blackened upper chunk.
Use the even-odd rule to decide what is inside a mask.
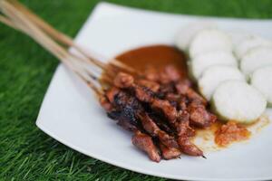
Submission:
[[[160,150],[154,144],[151,136],[141,132],[137,119],[137,114],[141,110],[141,105],[129,97],[125,92],[112,87],[101,99],[102,107],[108,111],[108,116],[117,120],[117,124],[123,129],[133,131],[132,144],[144,151],[152,161],[160,162]],[[112,109],[108,109],[112,105]]]

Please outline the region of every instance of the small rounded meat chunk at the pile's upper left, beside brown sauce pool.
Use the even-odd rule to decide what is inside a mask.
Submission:
[[[113,80],[113,84],[118,88],[129,88],[133,85],[134,78],[130,74],[119,72]]]

